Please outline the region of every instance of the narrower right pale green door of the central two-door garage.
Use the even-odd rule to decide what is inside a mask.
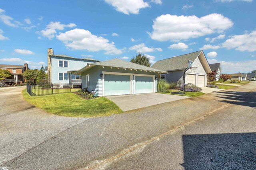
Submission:
[[[135,93],[153,93],[154,82],[152,76],[136,76],[135,77]]]

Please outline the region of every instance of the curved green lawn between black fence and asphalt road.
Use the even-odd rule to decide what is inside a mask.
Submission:
[[[114,102],[104,97],[83,100],[74,93],[31,97],[26,89],[22,94],[30,104],[61,116],[99,117],[123,112]]]

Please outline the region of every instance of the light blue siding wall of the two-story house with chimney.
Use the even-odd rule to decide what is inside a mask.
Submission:
[[[58,60],[68,61],[68,67],[59,67]],[[51,82],[52,83],[70,83],[70,74],[68,75],[68,80],[58,80],[58,73],[67,73],[70,70],[80,70],[81,68],[86,66],[87,63],[92,63],[92,61],[52,56],[52,80],[51,80]]]

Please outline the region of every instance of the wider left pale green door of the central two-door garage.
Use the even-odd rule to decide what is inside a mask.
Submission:
[[[131,92],[130,76],[105,74],[104,78],[105,78],[104,80],[105,96],[130,94]]]

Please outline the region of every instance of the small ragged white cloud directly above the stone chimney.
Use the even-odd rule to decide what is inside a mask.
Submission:
[[[48,39],[52,39],[57,33],[56,30],[63,30],[65,27],[76,27],[76,24],[69,23],[65,25],[60,22],[50,22],[48,25],[46,25],[46,29],[41,31],[41,34]]]

